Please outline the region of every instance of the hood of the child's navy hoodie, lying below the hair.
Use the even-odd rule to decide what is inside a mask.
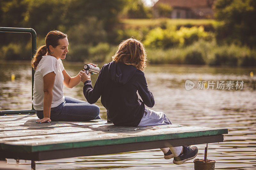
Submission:
[[[108,68],[111,80],[119,85],[126,84],[137,71],[133,65],[126,65],[123,62],[109,63]]]

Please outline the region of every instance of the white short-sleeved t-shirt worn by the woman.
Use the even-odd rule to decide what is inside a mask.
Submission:
[[[64,102],[64,93],[63,93],[63,80],[64,76],[62,71],[64,70],[63,64],[60,59],[46,55],[43,56],[39,62],[34,79],[34,92],[32,104],[36,110],[43,110],[44,104],[44,80],[43,77],[54,71],[55,81],[52,89],[52,107],[59,106]]]

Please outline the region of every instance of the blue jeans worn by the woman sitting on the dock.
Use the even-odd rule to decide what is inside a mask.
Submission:
[[[100,118],[100,107],[86,101],[65,96],[65,100],[57,107],[51,108],[52,121],[90,121]],[[36,110],[39,119],[44,118],[43,110]]]

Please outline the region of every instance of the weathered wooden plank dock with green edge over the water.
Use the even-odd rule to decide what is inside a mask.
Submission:
[[[0,157],[33,161],[223,142],[228,129],[161,125],[122,127],[106,120],[36,123],[36,115],[0,116]]]

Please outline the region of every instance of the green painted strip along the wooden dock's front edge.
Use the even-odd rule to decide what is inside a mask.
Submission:
[[[92,146],[107,146],[113,144],[128,144],[136,142],[148,142],[148,141],[161,141],[170,139],[181,139],[181,138],[192,138],[192,137],[205,137],[205,136],[216,136],[228,134],[228,129],[213,129],[206,131],[196,131],[196,132],[185,132],[185,133],[175,133],[175,134],[159,134],[152,136],[143,137],[126,137],[126,138],[115,138],[115,139],[105,139],[105,140],[93,140],[93,141],[83,141],[83,142],[69,142],[69,143],[59,143],[59,144],[46,144],[46,145],[13,145],[13,144],[0,144],[1,150],[8,150],[13,152],[42,152],[49,150],[60,150],[60,149],[72,149],[72,148],[82,148],[82,147],[92,147]]]

